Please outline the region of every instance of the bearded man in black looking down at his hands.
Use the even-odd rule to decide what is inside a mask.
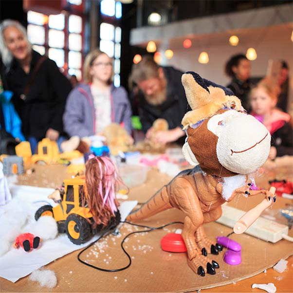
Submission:
[[[181,121],[187,110],[187,99],[181,82],[183,72],[173,67],[159,66],[151,56],[134,64],[129,84],[137,94],[138,112],[146,137],[152,134],[152,124],[158,118],[168,122],[169,130],[159,131],[155,140],[161,144],[184,143]]]

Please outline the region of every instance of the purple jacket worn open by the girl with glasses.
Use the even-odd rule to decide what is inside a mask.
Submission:
[[[131,134],[131,107],[127,92],[123,87],[111,85],[111,121],[122,124]],[[69,94],[63,114],[64,130],[79,137],[95,134],[95,109],[91,86],[80,84]]]

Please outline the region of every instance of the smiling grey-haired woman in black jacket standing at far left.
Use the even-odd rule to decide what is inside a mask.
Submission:
[[[0,24],[0,55],[8,90],[22,121],[22,131],[34,153],[47,137],[58,146],[63,137],[62,115],[71,91],[70,81],[56,63],[32,50],[25,28],[15,20]]]

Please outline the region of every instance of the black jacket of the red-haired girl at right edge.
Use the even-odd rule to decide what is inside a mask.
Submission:
[[[271,145],[276,148],[277,157],[293,156],[293,130],[289,123],[272,134]]]

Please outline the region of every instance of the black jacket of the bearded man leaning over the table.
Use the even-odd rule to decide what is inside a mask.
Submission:
[[[162,67],[167,81],[167,99],[159,106],[147,103],[144,95],[139,96],[139,116],[143,131],[152,127],[153,122],[158,118],[164,118],[169,124],[169,129],[182,127],[181,121],[187,111],[188,102],[181,83],[183,72],[173,67]],[[180,139],[182,143],[184,139]]]

